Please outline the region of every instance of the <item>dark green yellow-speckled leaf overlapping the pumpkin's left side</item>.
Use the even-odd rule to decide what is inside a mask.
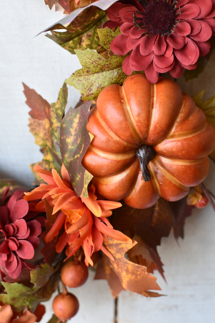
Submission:
[[[91,101],[77,109],[70,108],[61,122],[60,148],[70,181],[78,196],[88,197],[87,186],[93,176],[85,170],[81,161],[92,138],[86,129]]]

